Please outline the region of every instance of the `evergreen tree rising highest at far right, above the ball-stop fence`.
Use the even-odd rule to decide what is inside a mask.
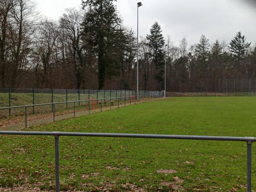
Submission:
[[[241,60],[245,57],[245,53],[250,47],[250,43],[246,43],[245,40],[245,36],[239,31],[230,42],[230,55],[233,57],[233,60],[236,61],[236,67],[240,67]]]

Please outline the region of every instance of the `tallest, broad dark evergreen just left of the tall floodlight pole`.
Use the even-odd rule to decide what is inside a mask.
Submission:
[[[111,79],[119,71],[122,61],[124,33],[122,20],[117,14],[116,0],[84,0],[86,10],[83,21],[84,36],[98,58],[99,89],[105,84],[105,79]],[[122,49],[122,48],[121,48]]]

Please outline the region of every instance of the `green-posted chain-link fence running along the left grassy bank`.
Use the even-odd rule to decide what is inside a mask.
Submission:
[[[140,90],[138,95],[161,94],[161,91],[146,91]],[[71,89],[34,89],[34,88],[0,88],[0,108],[12,107],[21,105],[36,105],[54,102],[70,102],[82,101],[87,99],[106,99],[106,98],[120,98],[122,102],[125,96],[137,95],[135,90],[71,90]],[[109,100],[109,101],[108,101]],[[110,103],[111,99],[106,100]],[[116,102],[116,101],[114,101]],[[84,102],[76,102],[76,107],[86,105]],[[56,111],[71,109],[72,103],[64,103],[58,105]],[[22,111],[21,111],[22,110]],[[28,109],[28,113],[47,113],[52,112],[52,106],[33,106]],[[8,116],[19,116],[23,114],[23,109],[14,108],[0,111],[0,118]]]

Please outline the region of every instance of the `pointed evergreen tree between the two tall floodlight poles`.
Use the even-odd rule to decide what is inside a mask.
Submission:
[[[150,34],[147,35],[148,47],[151,49],[151,55],[156,68],[155,78],[158,82],[163,82],[164,74],[164,38],[161,26],[155,22],[150,29]]]

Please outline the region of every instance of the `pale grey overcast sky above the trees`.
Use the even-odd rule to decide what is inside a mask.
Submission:
[[[241,31],[247,41],[256,43],[256,0],[140,0],[139,35],[149,33],[157,21],[163,35],[169,34],[175,45],[183,36],[189,44],[198,43],[201,34],[212,43],[230,40]],[[81,0],[34,0],[38,11],[57,20],[65,8],[81,7]],[[117,0],[117,9],[125,26],[137,33],[138,0]]]

